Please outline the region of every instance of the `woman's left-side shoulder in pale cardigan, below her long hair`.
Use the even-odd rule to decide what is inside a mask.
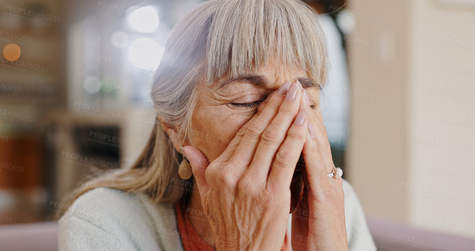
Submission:
[[[59,220],[60,250],[82,250],[90,241],[107,244],[92,250],[109,250],[110,243],[116,251],[162,250],[156,225],[171,213],[172,205],[154,204],[143,193],[98,187],[79,196]]]

